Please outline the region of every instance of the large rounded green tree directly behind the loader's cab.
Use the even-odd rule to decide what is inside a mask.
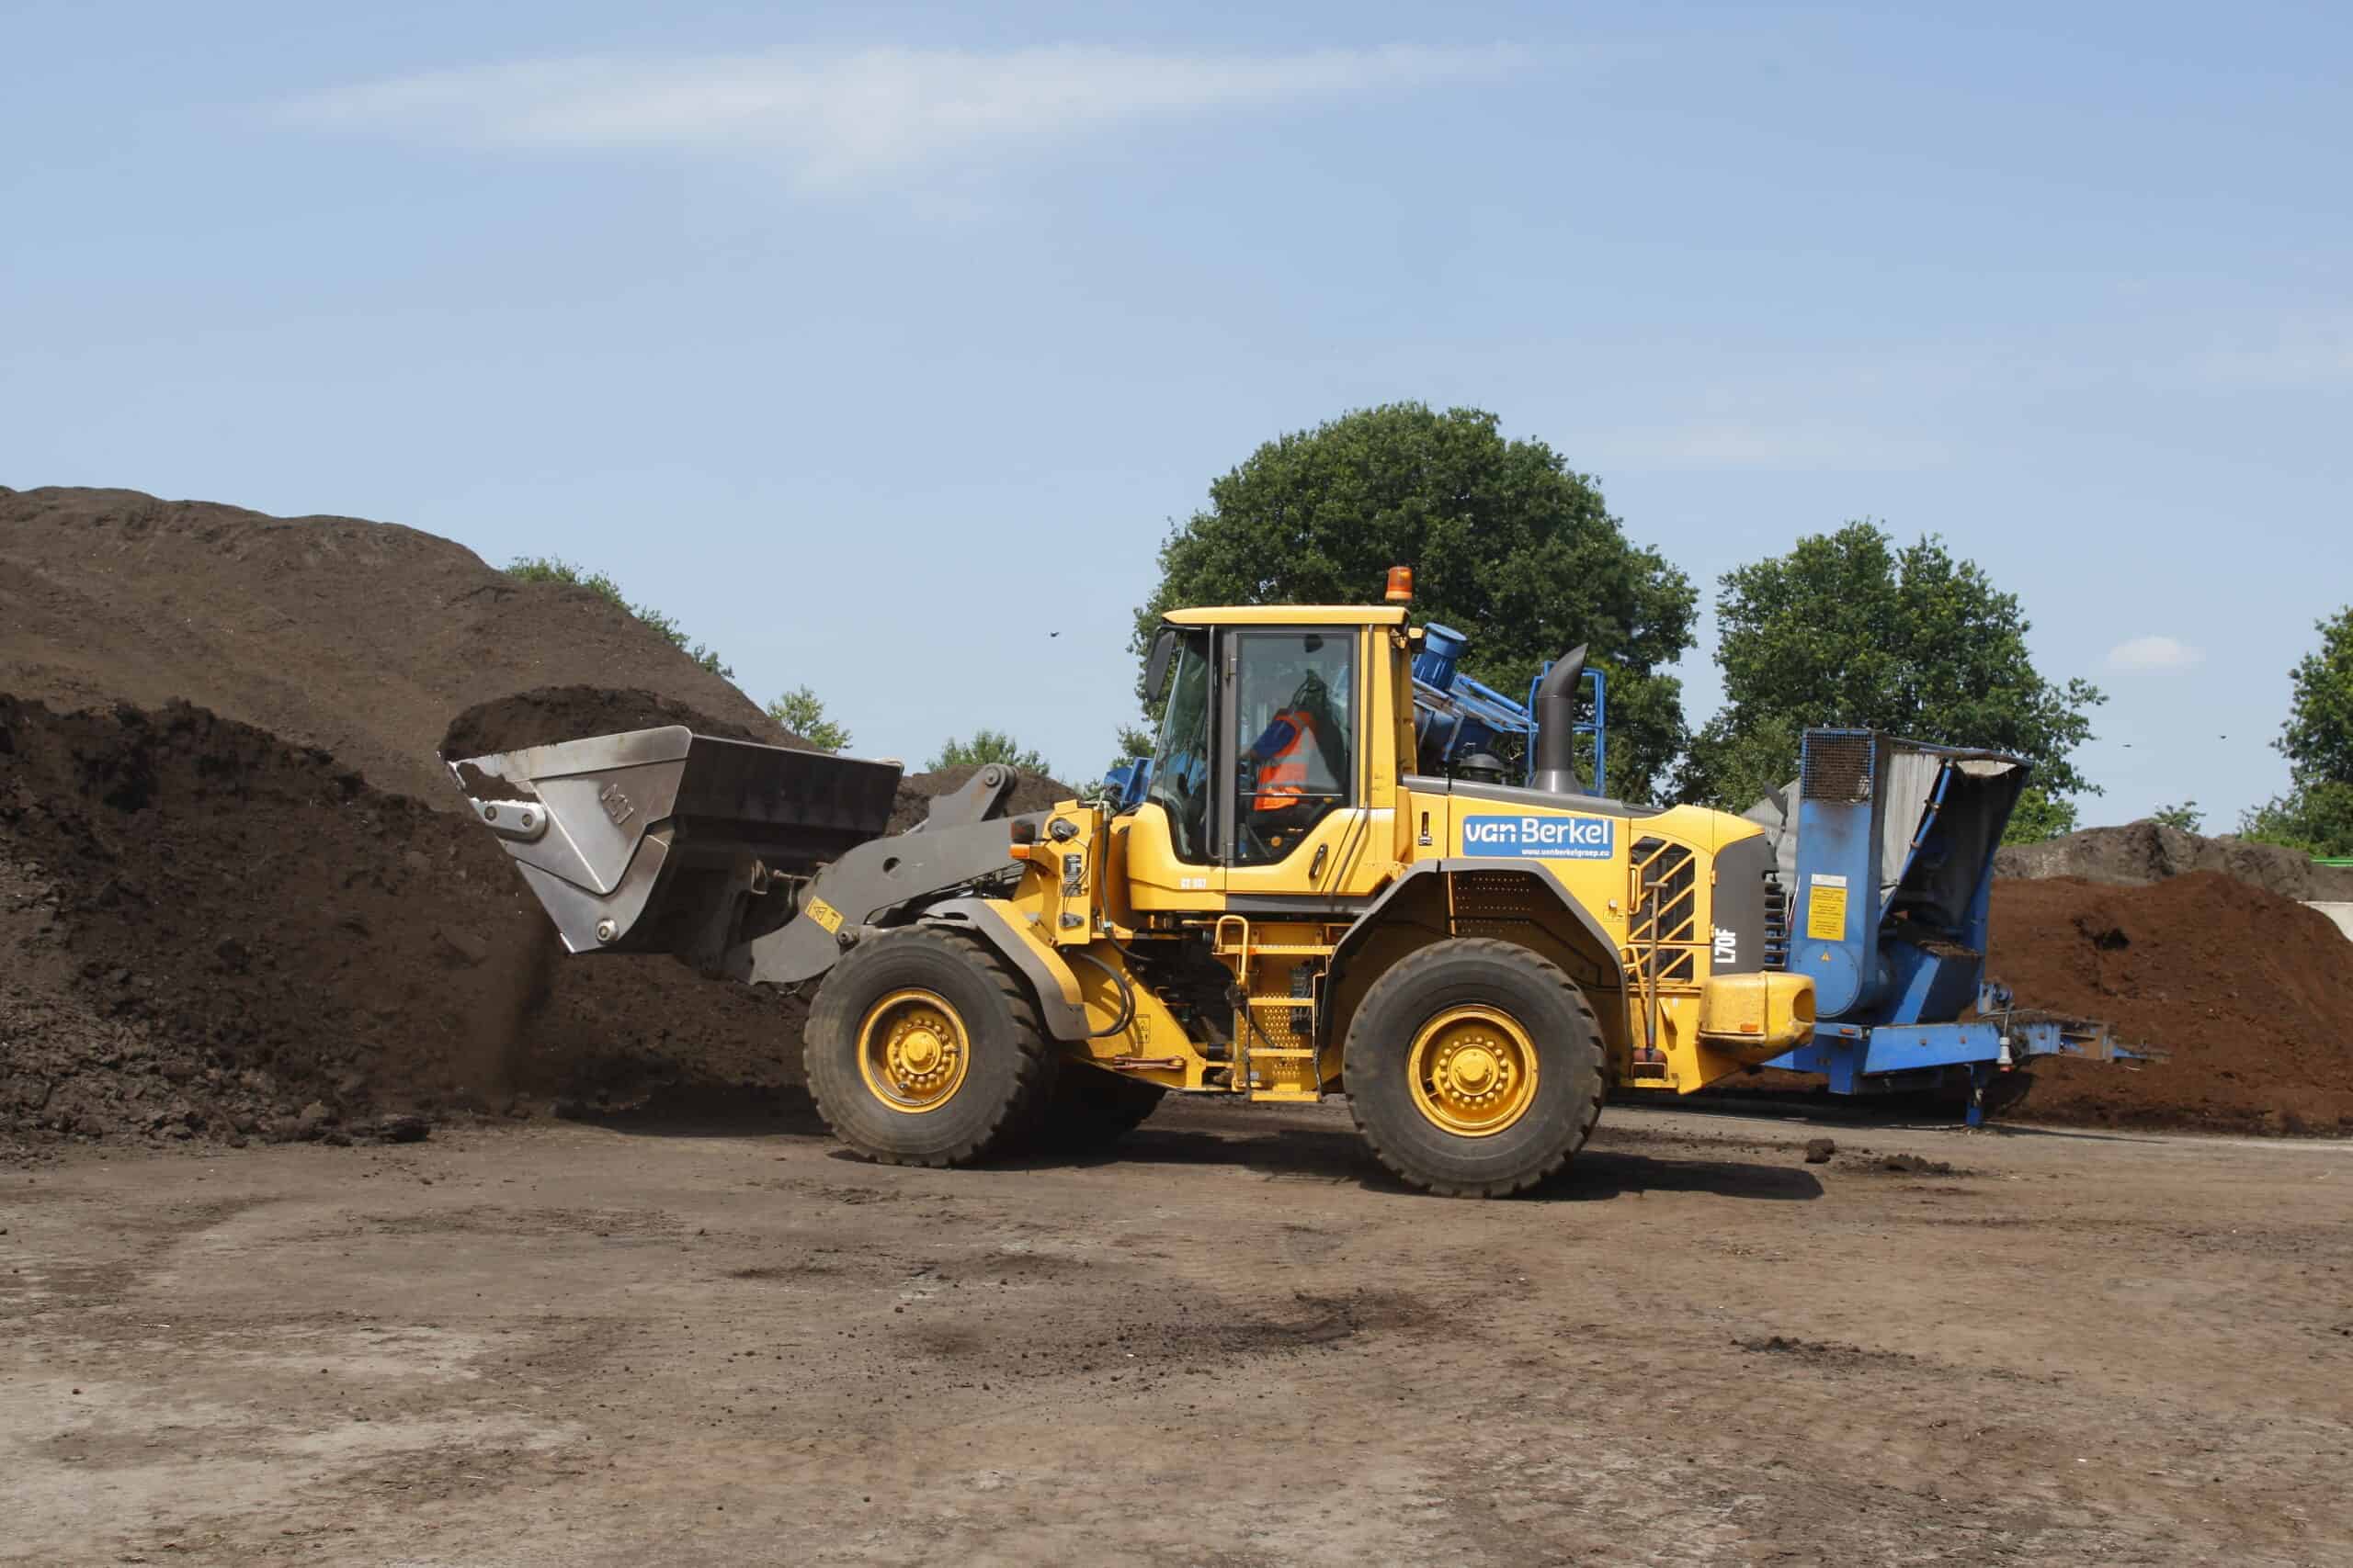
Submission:
[[[1609,785],[1645,795],[1682,750],[1697,590],[1633,545],[1600,487],[1480,409],[1344,414],[1259,447],[1169,529],[1134,654],[1188,604],[1365,604],[1414,569],[1414,616],[1471,637],[1464,670],[1520,696],[1539,665],[1593,646],[1609,675]]]

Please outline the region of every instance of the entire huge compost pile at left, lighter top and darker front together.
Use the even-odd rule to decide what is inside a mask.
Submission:
[[[793,743],[598,595],[428,534],[0,491],[0,1135],[795,1084],[795,999],[562,961],[435,757],[645,724]]]

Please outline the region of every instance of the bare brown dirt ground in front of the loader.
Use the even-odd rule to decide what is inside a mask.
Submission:
[[[1459,1204],[1337,1107],[934,1173],[788,1105],[0,1227],[5,1561],[2353,1561],[2344,1143],[1612,1107]]]

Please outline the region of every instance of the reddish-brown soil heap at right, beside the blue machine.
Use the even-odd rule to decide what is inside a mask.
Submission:
[[[2146,1067],[2042,1058],[2014,1117],[2353,1133],[2353,943],[2224,872],[1993,884],[1988,973],[2021,1006],[2115,1025]]]

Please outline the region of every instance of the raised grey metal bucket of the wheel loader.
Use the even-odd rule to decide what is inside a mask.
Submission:
[[[896,762],[671,724],[452,759],[569,952],[713,954],[767,875],[805,877],[889,825]]]

